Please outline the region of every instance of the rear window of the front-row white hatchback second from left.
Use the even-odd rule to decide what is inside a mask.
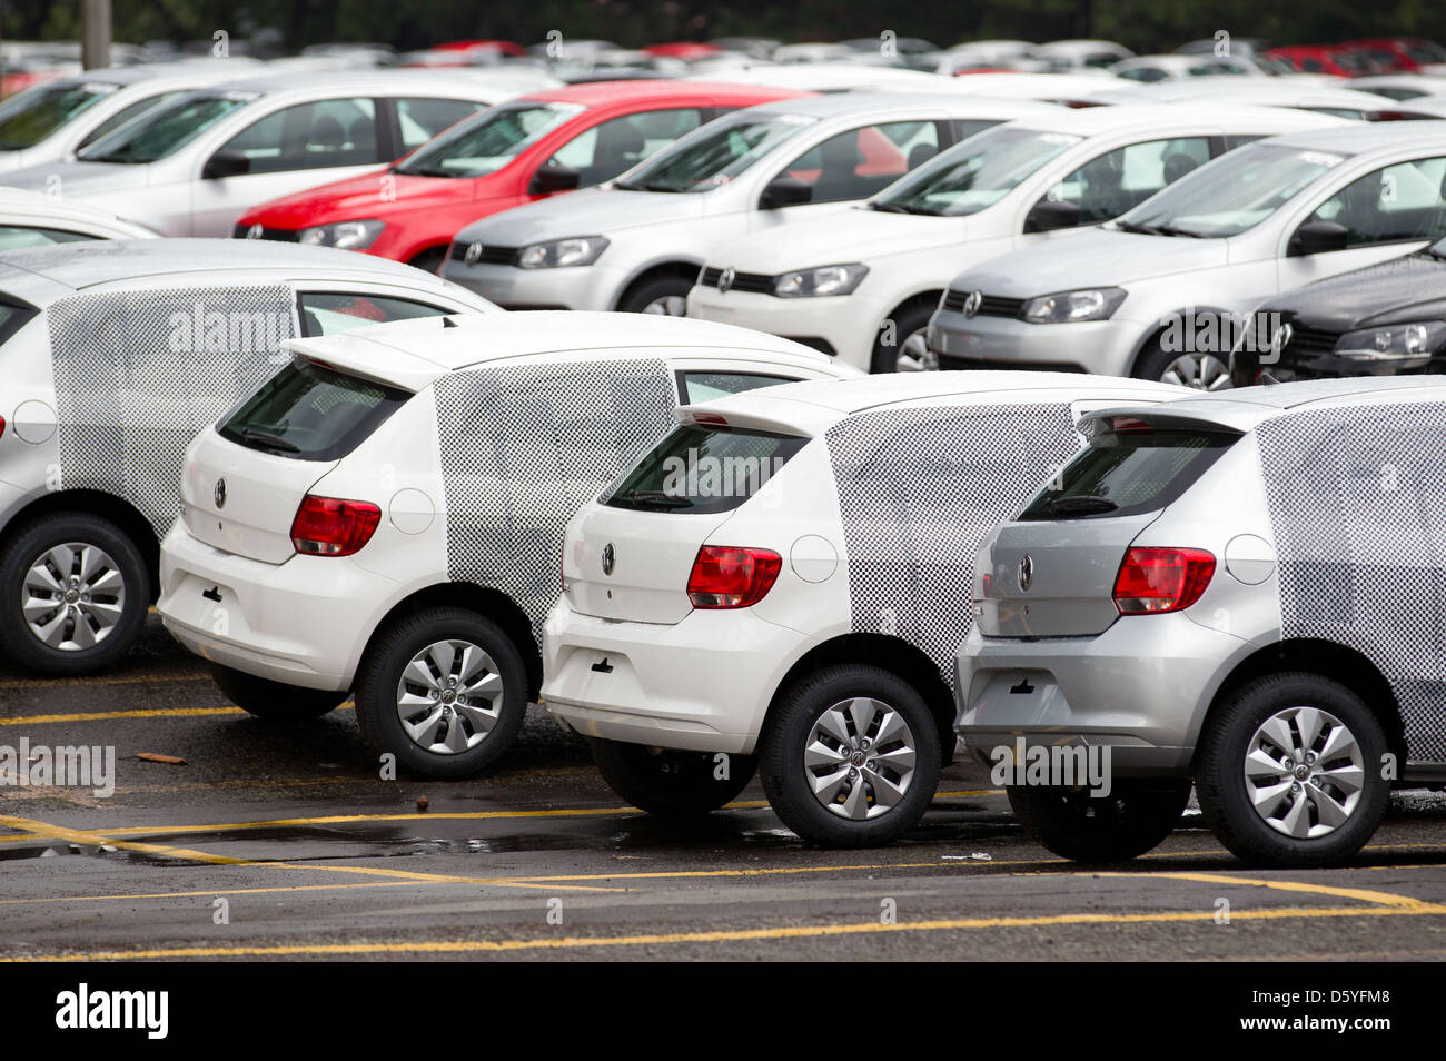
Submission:
[[[314,361],[288,364],[217,428],[221,438],[302,461],[356,450],[411,395]]]

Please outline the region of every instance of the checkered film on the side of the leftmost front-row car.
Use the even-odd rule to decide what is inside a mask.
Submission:
[[[124,497],[165,535],[191,439],[289,357],[286,288],[75,295],[49,311],[61,484]]]

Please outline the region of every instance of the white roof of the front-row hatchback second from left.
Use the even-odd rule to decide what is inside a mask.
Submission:
[[[432,369],[458,371],[542,354],[587,351],[589,360],[628,358],[665,347],[696,348],[700,356],[716,354],[720,348],[752,350],[811,369],[831,364],[827,354],[800,343],[732,324],[561,309],[419,317],[335,335],[296,338],[288,347],[304,357],[380,376],[386,374],[388,363],[401,367],[405,361],[414,366],[425,361]]]

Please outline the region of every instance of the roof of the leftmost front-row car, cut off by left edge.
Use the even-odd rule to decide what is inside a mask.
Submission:
[[[357,254],[334,247],[301,247],[270,240],[95,240],[59,243],[0,254],[0,286],[36,286],[26,278],[49,282],[55,298],[121,280],[155,280],[161,276],[194,276],[198,273],[231,273],[243,269],[289,269],[298,276],[328,273],[333,276],[370,276],[379,280],[403,280],[409,285],[428,283],[431,276],[419,269],[375,254]],[[432,278],[437,288],[444,285]],[[67,289],[55,292],[54,285]],[[137,283],[136,286],[155,286]],[[27,299],[33,301],[33,299]]]

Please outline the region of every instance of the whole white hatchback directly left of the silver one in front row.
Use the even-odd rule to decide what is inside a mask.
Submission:
[[[701,814],[761,769],[813,843],[888,843],[954,747],[975,551],[1090,409],[1181,387],[1051,373],[800,383],[678,412],[583,507],[544,700],[633,805]]]

